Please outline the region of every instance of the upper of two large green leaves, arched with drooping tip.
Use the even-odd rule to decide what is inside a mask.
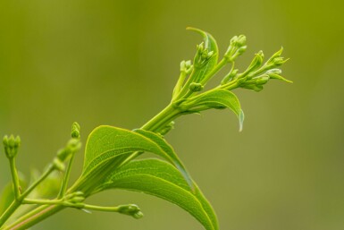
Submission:
[[[121,166],[131,153],[137,151],[151,152],[168,160],[180,169],[186,180],[191,181],[171,146],[153,132],[132,132],[103,125],[88,136],[84,166],[77,183],[79,189],[86,193],[92,192],[92,188],[101,183],[109,172]]]

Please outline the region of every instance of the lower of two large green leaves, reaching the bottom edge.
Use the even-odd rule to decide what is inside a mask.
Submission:
[[[131,161],[113,171],[98,187],[98,192],[107,189],[145,192],[168,200],[196,217],[206,230],[219,229],[214,210],[197,185],[195,192],[192,192],[180,172],[162,160]]]

